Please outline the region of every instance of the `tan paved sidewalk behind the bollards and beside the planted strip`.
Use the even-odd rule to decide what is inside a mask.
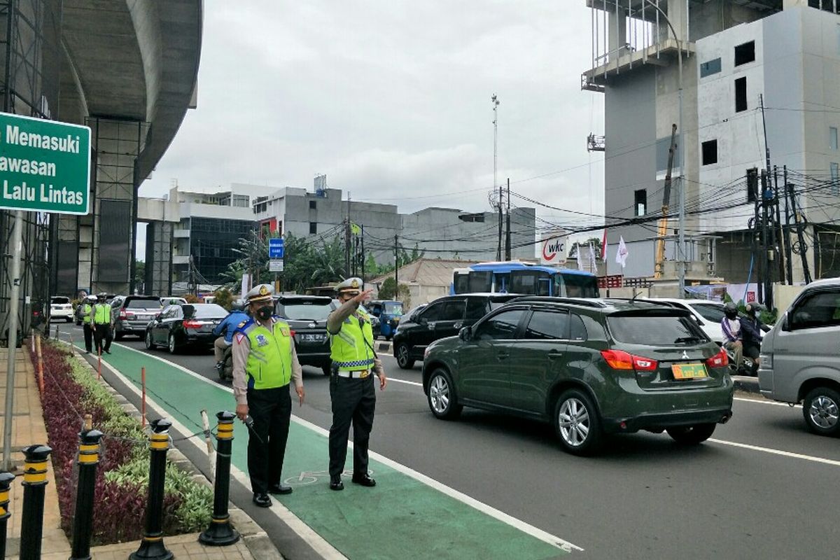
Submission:
[[[0,348],[0,406],[4,406],[6,402],[7,360],[8,350]],[[14,480],[9,496],[9,511],[12,516],[8,521],[6,557],[17,560],[20,545],[20,521],[24,509],[24,488],[22,485],[24,454],[20,450],[34,443],[48,444],[35,369],[29,360],[29,351],[25,347],[18,348],[15,353],[13,397],[12,458],[17,467],[14,474],[18,475],[18,479]],[[0,434],[3,433],[4,417],[4,414],[0,414]],[[48,463],[48,468],[41,553],[44,560],[66,560],[71,555],[71,545],[61,529],[61,514],[51,461]],[[248,516],[243,516],[241,512],[237,511],[237,514],[239,515],[234,516],[234,512],[231,512],[234,525],[238,519],[246,524],[253,523]],[[190,558],[191,560],[251,560],[255,558],[246,544],[247,539],[240,539],[239,542],[228,547],[205,547],[197,539],[197,533],[166,536],[164,537],[164,543],[175,554],[175,557]],[[139,541],[123,542],[104,547],[94,547],[91,550],[91,555],[94,560],[115,560],[116,558],[128,557],[129,553],[136,551],[138,547]],[[270,557],[280,558],[280,555],[277,553],[276,555],[270,555]]]

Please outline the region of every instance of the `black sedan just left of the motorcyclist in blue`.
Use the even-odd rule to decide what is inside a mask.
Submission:
[[[211,348],[216,336],[213,327],[228,316],[215,303],[177,303],[164,307],[145,327],[146,348],[165,347],[169,353],[183,348]]]

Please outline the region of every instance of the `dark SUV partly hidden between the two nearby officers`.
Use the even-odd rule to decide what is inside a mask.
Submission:
[[[289,323],[294,332],[297,361],[313,365],[329,375],[329,340],[327,317],[333,311],[329,296],[280,296],[276,299],[276,314]]]

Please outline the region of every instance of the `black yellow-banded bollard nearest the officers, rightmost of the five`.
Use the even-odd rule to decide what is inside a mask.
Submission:
[[[219,412],[216,433],[216,484],[213,484],[213,520],[198,541],[213,547],[223,547],[239,541],[239,533],[230,525],[228,495],[230,494],[230,452],[234,442],[236,415]]]

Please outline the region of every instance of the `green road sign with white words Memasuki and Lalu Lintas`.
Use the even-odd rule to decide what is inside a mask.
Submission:
[[[91,129],[0,113],[0,208],[87,214]]]

